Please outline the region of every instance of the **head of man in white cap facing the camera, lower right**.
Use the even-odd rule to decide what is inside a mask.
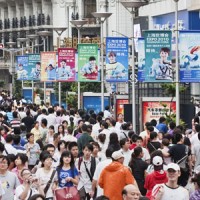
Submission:
[[[178,177],[181,175],[180,167],[176,163],[170,163],[167,165],[167,178],[168,182],[177,183]]]

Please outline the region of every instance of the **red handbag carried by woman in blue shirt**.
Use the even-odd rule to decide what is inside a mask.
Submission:
[[[75,186],[56,189],[55,197],[56,200],[80,200],[78,190]]]

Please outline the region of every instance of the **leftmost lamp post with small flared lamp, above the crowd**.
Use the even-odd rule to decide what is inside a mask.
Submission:
[[[6,42],[6,44],[11,48],[10,52],[10,63],[11,63],[11,74],[12,74],[12,84],[10,86],[10,96],[12,97],[14,94],[14,81],[15,81],[15,63],[14,63],[14,51],[13,46],[16,45],[16,42]]]

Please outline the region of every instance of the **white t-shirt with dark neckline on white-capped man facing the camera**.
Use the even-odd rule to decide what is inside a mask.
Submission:
[[[189,200],[189,192],[179,186],[178,188],[170,188],[166,184],[162,184],[164,187],[164,193],[160,200]],[[152,194],[160,185],[155,185],[152,191]]]

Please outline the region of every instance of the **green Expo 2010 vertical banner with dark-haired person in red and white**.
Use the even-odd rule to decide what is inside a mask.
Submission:
[[[99,81],[99,58],[97,44],[78,44],[78,80]]]

